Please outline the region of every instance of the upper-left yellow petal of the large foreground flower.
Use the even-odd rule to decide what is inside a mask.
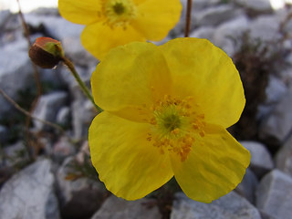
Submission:
[[[112,49],[91,77],[92,94],[100,108],[136,121],[145,119],[137,109],[150,109],[153,101],[170,92],[170,86],[162,52],[151,43]]]

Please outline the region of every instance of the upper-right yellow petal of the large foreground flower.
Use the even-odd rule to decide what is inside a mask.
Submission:
[[[239,120],[245,107],[244,89],[223,50],[198,38],[177,38],[160,48],[175,81],[175,95],[193,96],[209,123],[227,128]]]

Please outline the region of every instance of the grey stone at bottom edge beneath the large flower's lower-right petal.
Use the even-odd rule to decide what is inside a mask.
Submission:
[[[171,219],[261,219],[256,208],[235,192],[213,203],[195,202],[183,193],[176,195]]]

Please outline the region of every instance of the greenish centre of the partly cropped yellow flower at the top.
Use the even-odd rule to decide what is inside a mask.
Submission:
[[[126,28],[136,16],[136,6],[131,0],[103,0],[102,14],[106,24],[111,28],[122,26]]]

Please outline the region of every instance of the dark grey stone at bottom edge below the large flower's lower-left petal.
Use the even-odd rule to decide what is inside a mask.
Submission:
[[[148,206],[152,200],[126,201],[111,195],[91,219],[161,219],[158,207]]]

